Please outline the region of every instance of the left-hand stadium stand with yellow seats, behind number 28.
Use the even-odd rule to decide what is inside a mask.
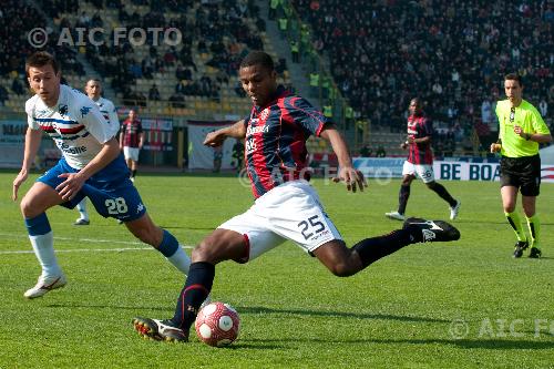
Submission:
[[[80,38],[79,29],[84,29],[84,34],[94,28],[103,30],[94,37],[100,42],[63,48],[52,48],[49,43],[45,48],[58,55],[64,52],[60,59],[72,63],[63,65],[66,81],[75,88],[84,85],[88,75],[74,58],[78,53],[84,55],[104,84],[115,92],[115,96],[110,98],[116,105],[138,106],[143,114],[192,119],[211,119],[217,113],[244,114],[249,110],[250,102],[245,99],[242,89],[237,89],[238,62],[254,49],[265,49],[278,60],[268,38],[259,30],[264,21],[259,18],[255,1],[41,0],[37,3],[44,14],[25,7],[23,19],[29,12],[27,24],[32,25],[27,27],[29,30],[49,27],[45,19],[39,23],[31,19],[52,19],[50,42],[59,40],[62,30],[71,30],[70,38],[74,42]],[[13,25],[29,31],[19,23]],[[140,39],[141,33],[134,33],[135,38],[126,33],[120,33],[121,38],[114,35],[114,32],[122,32],[123,29],[126,32],[133,28],[157,28],[162,31],[155,41],[152,40],[154,33],[146,33],[144,44]],[[175,32],[167,33],[172,28],[179,30],[181,40],[175,39]],[[170,38],[164,40],[164,34]],[[19,48],[19,58],[4,60],[2,65],[10,62],[18,64],[18,75],[22,79],[22,60],[33,49],[27,39],[18,38],[18,42],[12,43],[11,48]],[[9,39],[2,45],[10,45]],[[290,84],[286,68],[281,82]],[[9,84],[8,80],[2,80],[2,86]],[[7,99],[6,104],[19,110],[21,102],[28,99],[25,93],[21,99],[11,101],[13,93],[9,90],[8,95],[10,99]],[[0,90],[0,101],[2,96]]]

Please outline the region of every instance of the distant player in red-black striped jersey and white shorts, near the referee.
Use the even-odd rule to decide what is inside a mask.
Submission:
[[[423,181],[429,189],[434,191],[450,205],[450,218],[453,221],[460,211],[460,201],[454,199],[443,185],[434,181],[433,152],[431,137],[433,126],[422,111],[421,101],[414,98],[410,101],[410,116],[408,117],[408,139],[400,146],[408,148],[408,158],[402,168],[402,183],[398,195],[398,211],[384,213],[391,219],[404,221],[406,205],[410,197],[410,186],[416,180],[416,174]]]

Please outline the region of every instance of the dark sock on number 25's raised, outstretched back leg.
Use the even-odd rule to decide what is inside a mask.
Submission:
[[[417,226],[392,230],[386,236],[366,238],[352,246],[358,253],[363,268],[381,257],[398,252],[404,246],[421,242],[421,229]]]

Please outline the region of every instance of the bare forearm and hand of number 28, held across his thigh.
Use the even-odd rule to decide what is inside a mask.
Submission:
[[[65,178],[65,181],[60,183],[55,187],[55,191],[58,191],[60,196],[65,201],[73,198],[86,180],[113,162],[117,155],[120,155],[120,146],[117,140],[112,137],[102,145],[102,150],[81,171],[78,173],[60,174],[59,176]]]

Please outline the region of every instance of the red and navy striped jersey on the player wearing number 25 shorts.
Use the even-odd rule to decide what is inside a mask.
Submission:
[[[309,180],[306,140],[318,136],[328,122],[321,112],[278,86],[276,99],[253,106],[245,122],[245,163],[254,197],[288,181]]]

